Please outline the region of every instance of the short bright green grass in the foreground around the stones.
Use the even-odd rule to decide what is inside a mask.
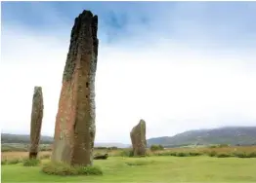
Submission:
[[[254,158],[110,157],[94,165],[101,166],[104,174],[63,177],[47,175],[40,166],[2,165],[2,182],[256,182]]]

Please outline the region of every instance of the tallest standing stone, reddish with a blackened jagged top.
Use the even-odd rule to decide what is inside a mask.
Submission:
[[[97,29],[98,17],[90,11],[74,20],[56,117],[53,162],[93,163]]]

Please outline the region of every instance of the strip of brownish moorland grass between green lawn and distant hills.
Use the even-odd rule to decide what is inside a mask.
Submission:
[[[210,157],[218,157],[218,154],[226,154],[229,157],[237,158],[256,158],[256,146],[210,146],[210,147],[180,147],[168,148],[164,150],[150,151],[148,149],[147,156],[178,156],[178,157],[191,157],[207,155]],[[95,149],[96,154],[108,154],[110,157],[132,157],[132,149]],[[23,159],[28,156],[28,152],[2,152],[2,160],[6,159]],[[38,158],[45,159],[51,156],[51,151],[40,151]],[[222,155],[221,155],[222,156]]]

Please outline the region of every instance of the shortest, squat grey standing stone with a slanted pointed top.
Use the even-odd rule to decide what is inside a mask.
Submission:
[[[146,122],[141,120],[140,123],[132,128],[130,132],[134,156],[146,156]]]

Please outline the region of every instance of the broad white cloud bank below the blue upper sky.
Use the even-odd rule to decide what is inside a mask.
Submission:
[[[4,32],[2,131],[29,132],[33,87],[42,86],[42,133],[53,135],[69,33],[45,34],[8,24]],[[148,137],[191,128],[256,125],[255,53],[191,47],[157,33],[100,42],[96,141],[129,143],[129,132],[141,118],[147,122]]]

